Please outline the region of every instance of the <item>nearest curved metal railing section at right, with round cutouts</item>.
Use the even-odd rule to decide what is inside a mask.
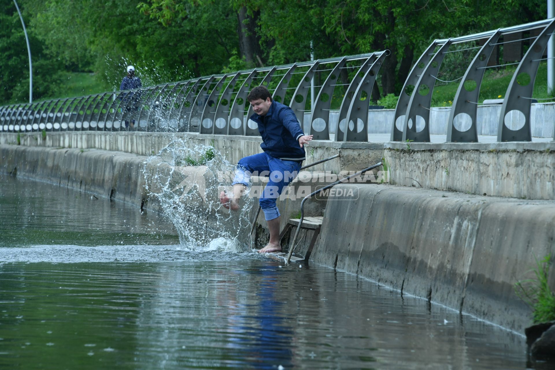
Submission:
[[[467,36],[434,40],[418,58],[405,81],[395,109],[395,119],[391,126],[391,141],[430,142],[430,111],[432,91],[440,65],[447,53],[476,49],[473,57],[466,62],[468,67],[458,85],[447,122],[447,142],[477,142],[477,106],[480,86],[487,68],[517,65],[507,91],[502,95],[497,141],[531,141],[530,110],[534,80],[539,62],[549,37],[555,31],[555,19],[545,19],[518,26],[496,29]],[[514,34],[529,32],[529,37],[514,37]],[[500,40],[503,38],[502,40]],[[498,57],[496,45],[511,44],[530,40],[527,52],[519,62],[499,65],[491,63],[492,55]],[[469,48],[450,50],[453,45],[477,42]],[[496,51],[495,53],[493,53]],[[503,59],[506,59],[504,55]],[[488,63],[490,62],[490,63]],[[442,82],[454,82],[443,81]],[[551,100],[547,98],[545,100]],[[541,99],[538,99],[541,100]]]

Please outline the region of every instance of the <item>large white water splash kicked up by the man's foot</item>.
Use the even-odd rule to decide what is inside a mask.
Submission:
[[[233,165],[213,146],[176,139],[145,162],[150,199],[178,231],[189,250],[246,251],[249,249],[248,192],[239,211],[221,205],[220,191],[230,190]]]

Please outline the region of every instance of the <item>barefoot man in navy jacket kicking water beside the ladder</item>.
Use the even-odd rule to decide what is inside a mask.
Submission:
[[[220,193],[220,201],[231,210],[239,209],[239,199],[249,186],[252,174],[269,173],[268,184],[264,187],[259,202],[270,230],[270,241],[259,252],[279,252],[280,213],[276,199],[282,190],[296,178],[305,160],[304,145],[312,140],[312,135],[302,132],[295,113],[284,104],[272,100],[264,86],[251,90],[247,97],[254,114],[251,120],[258,124],[264,153],[247,156],[239,160],[233,179],[233,192]]]

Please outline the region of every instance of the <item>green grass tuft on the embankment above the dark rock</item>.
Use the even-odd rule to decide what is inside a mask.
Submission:
[[[534,278],[519,280],[514,284],[514,291],[526,304],[533,309],[534,323],[555,320],[555,294],[549,288],[548,269],[551,265],[551,254],[538,261],[533,272]]]

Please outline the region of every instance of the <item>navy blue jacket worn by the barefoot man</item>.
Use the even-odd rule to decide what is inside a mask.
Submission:
[[[263,140],[260,148],[268,155],[284,160],[305,159],[305,149],[299,146],[299,138],[304,133],[295,113],[287,105],[274,100],[265,116],[255,113],[250,119],[258,124]]]

